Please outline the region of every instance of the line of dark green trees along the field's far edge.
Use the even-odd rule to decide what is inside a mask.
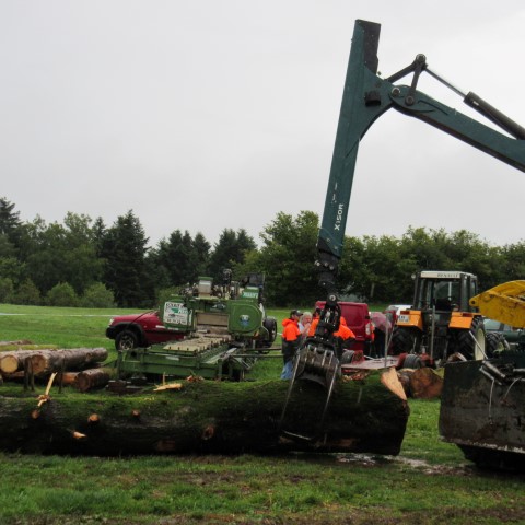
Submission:
[[[279,212],[260,232],[260,246],[244,229],[224,229],[212,245],[200,232],[174,230],[149,246],[129,210],[112,225],[68,212],[62,223],[37,215],[22,222],[0,198],[0,302],[88,307],[156,307],[161,298],[196,282],[247,272],[266,276],[270,306],[313,305],[324,299],[314,271],[319,218]],[[409,228],[401,237],[345,237],[338,285],[342,298],[410,303],[411,276],[422,269],[476,273],[481,289],[525,276],[525,241],[493,246],[460,230]]]

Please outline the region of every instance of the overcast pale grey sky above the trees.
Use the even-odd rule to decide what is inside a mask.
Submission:
[[[279,211],[320,215],[355,19],[382,24],[384,77],[423,52],[525,126],[523,0],[0,0],[0,196],[23,220],[132,209],[152,244],[259,242]],[[388,112],[361,143],[347,234],[516,243],[524,195],[525,173]]]

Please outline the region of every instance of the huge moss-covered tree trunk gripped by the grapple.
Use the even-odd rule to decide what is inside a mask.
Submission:
[[[322,429],[317,425],[326,390],[312,382],[296,383],[283,428],[310,434],[312,441],[293,440],[280,432],[289,385],[284,381],[182,382],[178,389],[149,388],[128,396],[70,389],[59,394],[54,387],[47,402],[45,396],[39,401],[35,396],[0,396],[0,448],[95,455],[398,454],[409,409],[396,380],[392,369],[339,382]]]

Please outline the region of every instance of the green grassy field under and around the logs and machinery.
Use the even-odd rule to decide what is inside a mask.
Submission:
[[[104,330],[124,312],[0,305],[0,313],[13,314],[0,315],[0,340],[113,352]],[[253,378],[277,377],[280,366],[265,361]],[[438,400],[409,405],[397,457],[0,453],[0,524],[525,523],[525,477],[476,469],[439,439]]]

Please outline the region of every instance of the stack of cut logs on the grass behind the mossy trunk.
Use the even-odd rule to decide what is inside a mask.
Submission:
[[[107,359],[105,348],[72,348],[67,350],[14,350],[0,352],[0,375],[4,380],[42,378],[58,373],[60,384],[70,384],[80,392],[104,386],[110,371],[100,364]]]

